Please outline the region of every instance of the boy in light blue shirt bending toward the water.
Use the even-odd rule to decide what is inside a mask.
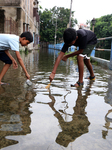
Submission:
[[[19,64],[23,68],[26,78],[27,79],[30,78],[30,75],[28,74],[19,53],[19,43],[22,46],[27,46],[32,41],[33,36],[30,32],[23,32],[20,35],[20,37],[14,34],[0,34],[0,60],[5,63],[0,73],[0,85],[6,84],[1,82],[1,80],[4,77],[5,73],[7,72],[7,70],[9,69],[9,67],[11,66],[11,64],[13,64],[14,69],[18,68],[16,60],[9,53],[9,49],[15,51],[16,57],[19,61]]]

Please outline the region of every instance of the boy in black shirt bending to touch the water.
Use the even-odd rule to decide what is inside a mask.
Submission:
[[[79,29],[76,31],[73,28],[67,28],[64,31],[63,39],[64,39],[65,44],[63,45],[63,48],[55,62],[53,71],[50,74],[50,77],[49,77],[50,82],[54,79],[57,67],[61,59],[63,61],[66,61],[69,57],[73,57],[75,55],[77,55],[77,62],[78,62],[78,68],[79,68],[79,80],[76,82],[76,84],[71,85],[71,86],[73,87],[83,86],[84,63],[90,72],[90,76],[88,79],[95,80],[92,65],[90,63],[90,54],[97,43],[96,35],[90,30]],[[78,46],[79,50],[71,54],[64,55],[65,52],[68,50],[68,47],[71,45]]]

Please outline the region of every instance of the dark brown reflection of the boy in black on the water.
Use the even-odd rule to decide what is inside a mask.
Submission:
[[[49,107],[54,111],[54,116],[58,119],[59,126],[61,127],[61,132],[58,133],[58,136],[56,137],[56,143],[60,144],[61,146],[67,147],[69,143],[75,141],[78,137],[81,135],[88,133],[88,127],[90,125],[90,122],[88,120],[88,117],[86,116],[85,108],[87,106],[87,98],[90,95],[91,87],[92,87],[93,81],[89,82],[88,86],[85,89],[85,92],[82,91],[82,88],[77,89],[78,97],[76,99],[76,105],[73,107],[73,114],[66,113],[65,110],[57,110],[55,108],[55,96],[51,93],[51,90],[49,89],[49,98],[51,99],[51,102],[44,103],[44,102],[37,102],[39,104],[47,104]],[[84,92],[82,94],[82,92]],[[66,96],[70,94],[71,91],[68,91],[68,93],[64,96],[63,103],[66,103]],[[74,100],[75,101],[75,100]],[[67,109],[64,107],[64,109]],[[66,121],[63,118],[63,114],[67,116],[71,116],[71,121]]]

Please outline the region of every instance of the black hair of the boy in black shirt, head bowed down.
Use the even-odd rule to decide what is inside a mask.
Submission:
[[[67,28],[63,34],[64,42],[67,44],[70,44],[73,40],[76,39],[76,36],[77,36],[77,33],[75,29]]]

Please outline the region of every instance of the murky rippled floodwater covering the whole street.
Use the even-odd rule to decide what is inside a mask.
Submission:
[[[50,90],[58,51],[21,54],[33,85],[25,86],[21,67],[11,67],[0,86],[0,148],[3,150],[110,150],[112,147],[112,73],[94,66],[95,82],[78,80],[72,60],[61,62]],[[0,63],[0,70],[3,64]],[[89,74],[85,68],[84,78]]]

